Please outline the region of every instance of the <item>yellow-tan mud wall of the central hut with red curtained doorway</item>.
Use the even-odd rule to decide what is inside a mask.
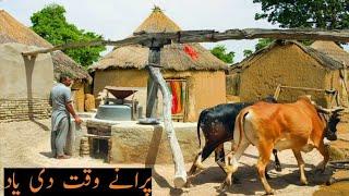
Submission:
[[[185,121],[197,121],[200,112],[208,107],[226,102],[226,76],[224,71],[165,71],[164,78],[181,78],[186,79],[189,86],[189,100],[186,102]],[[95,73],[94,95],[105,86],[118,87],[144,87],[135,95],[135,99],[143,106],[145,112],[146,107],[146,83],[148,74],[145,70],[108,70],[97,71]],[[158,114],[161,115],[163,106],[159,96]],[[97,101],[96,101],[97,102]]]

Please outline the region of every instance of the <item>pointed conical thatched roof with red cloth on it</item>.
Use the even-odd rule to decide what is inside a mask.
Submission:
[[[178,32],[181,28],[159,8],[136,28],[135,33]],[[191,58],[184,50],[192,49],[197,58]],[[143,69],[148,61],[148,48],[139,45],[116,48],[95,63],[91,70],[105,69]],[[173,44],[161,49],[161,65],[166,70],[226,70],[227,64],[213,56],[200,44]]]

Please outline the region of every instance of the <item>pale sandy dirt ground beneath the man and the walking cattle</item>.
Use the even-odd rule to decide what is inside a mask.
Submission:
[[[49,167],[49,168],[122,168],[122,167],[144,167],[142,164],[108,164],[103,160],[92,158],[74,157],[68,160],[57,160],[50,155],[50,120],[25,121],[0,123],[0,195],[3,194],[3,170],[7,167]],[[344,126],[348,127],[348,126]],[[229,144],[228,144],[229,145]],[[241,158],[241,167],[236,176],[238,184],[233,184],[225,192],[219,192],[218,187],[224,181],[224,172],[214,164],[214,158],[210,157],[204,162],[205,166],[213,167],[201,173],[193,180],[193,187],[176,189],[173,188],[172,176],[173,166],[155,166],[153,170],[153,194],[154,195],[263,195],[264,189],[260,183],[256,169],[257,151],[255,147],[250,146]],[[272,187],[276,189],[277,195],[312,195],[316,192],[332,174],[327,168],[325,173],[314,173],[314,166],[321,160],[321,155],[313,150],[303,154],[306,164],[306,176],[310,182],[306,186],[301,186],[299,182],[299,172],[297,161],[291,150],[279,152],[282,164],[282,172],[276,172],[272,164],[268,167],[272,179],[268,180]],[[274,158],[272,158],[274,160]],[[186,171],[191,163],[186,163]]]

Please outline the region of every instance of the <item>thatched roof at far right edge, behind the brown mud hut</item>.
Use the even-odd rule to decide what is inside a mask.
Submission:
[[[349,53],[334,41],[314,41],[310,47],[349,66]]]

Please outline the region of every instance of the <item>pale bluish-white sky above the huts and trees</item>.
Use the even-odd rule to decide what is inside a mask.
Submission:
[[[106,39],[123,39],[159,5],[182,29],[276,28],[266,21],[254,21],[260,4],[252,0],[0,0],[0,8],[31,26],[31,15],[46,4],[59,3],[67,19],[79,28],[101,34]],[[244,49],[256,40],[220,41],[236,52],[234,62],[243,59]],[[217,44],[203,44],[212,48]]]

